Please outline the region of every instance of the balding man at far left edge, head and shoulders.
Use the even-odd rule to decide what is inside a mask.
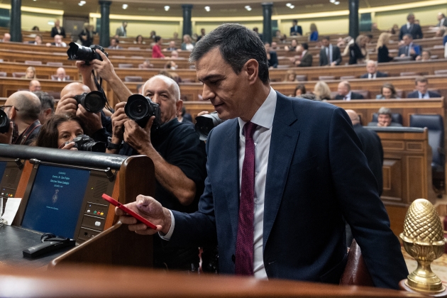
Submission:
[[[1,109],[11,123],[9,131],[0,133],[0,143],[30,145],[40,130],[40,100],[28,91],[18,91],[6,99]]]

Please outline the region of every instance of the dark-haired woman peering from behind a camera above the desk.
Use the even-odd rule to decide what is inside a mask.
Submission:
[[[81,119],[75,115],[53,115],[42,125],[33,145],[45,148],[77,150],[72,140],[84,134],[83,126]]]

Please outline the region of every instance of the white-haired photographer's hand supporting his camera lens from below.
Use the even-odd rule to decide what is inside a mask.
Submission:
[[[140,154],[148,155],[148,150],[154,150],[150,143],[150,128],[154,119],[155,116],[150,117],[145,128],[140,128],[138,123],[133,120],[124,123],[124,141]]]

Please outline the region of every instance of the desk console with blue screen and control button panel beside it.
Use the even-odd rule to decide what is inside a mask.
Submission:
[[[115,182],[94,168],[35,165],[22,201],[21,226],[86,241],[106,228],[109,203],[101,195],[111,195]]]

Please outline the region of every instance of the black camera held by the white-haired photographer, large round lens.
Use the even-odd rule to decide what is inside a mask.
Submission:
[[[160,106],[155,104],[149,97],[140,94],[133,94],[127,99],[124,111],[129,119],[132,119],[139,126],[145,127],[149,118],[155,116],[151,131],[158,129],[161,125]]]

